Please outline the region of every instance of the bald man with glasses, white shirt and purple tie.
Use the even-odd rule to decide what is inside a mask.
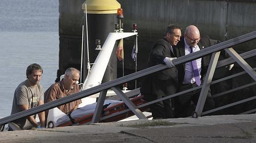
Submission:
[[[181,37],[181,40],[177,46],[174,46],[176,52],[175,55],[178,58],[218,43],[220,43],[220,41],[210,39],[207,35],[201,37],[199,29],[194,25],[190,25],[185,29],[184,37]],[[205,56],[192,62],[179,65],[179,88],[177,92],[201,85],[201,83],[203,83],[203,77],[207,72],[209,62],[210,56]],[[194,90],[192,92],[180,95],[179,97],[175,97],[175,117],[191,116],[193,110],[195,109],[193,108],[193,105],[191,105],[191,101],[193,101],[193,104],[196,106],[200,91],[201,89]],[[203,111],[210,110],[214,107],[215,103],[211,97],[211,91],[209,90]]]

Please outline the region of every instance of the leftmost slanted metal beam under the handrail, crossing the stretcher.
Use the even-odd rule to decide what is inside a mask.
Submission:
[[[92,119],[92,123],[98,123],[102,110],[103,110],[103,104],[107,95],[107,91],[108,90],[102,90],[100,92],[97,104],[96,104],[96,108],[94,110],[94,114],[93,114],[93,119]]]

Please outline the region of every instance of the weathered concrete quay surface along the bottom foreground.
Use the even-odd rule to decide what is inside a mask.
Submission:
[[[256,114],[165,119],[171,126],[130,128],[154,120],[0,132],[0,143],[255,143]]]

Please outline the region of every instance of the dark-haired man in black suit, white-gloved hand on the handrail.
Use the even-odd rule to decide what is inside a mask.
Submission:
[[[159,71],[145,77],[140,89],[146,101],[156,100],[174,94],[178,86],[178,71],[171,60],[175,58],[172,46],[177,45],[181,37],[181,27],[170,25],[166,28],[164,39],[158,40],[151,52],[148,67],[166,64],[170,69]],[[173,68],[171,68],[173,67]],[[173,118],[171,99],[150,104],[153,119]]]

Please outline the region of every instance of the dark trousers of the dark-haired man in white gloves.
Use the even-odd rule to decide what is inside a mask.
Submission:
[[[162,98],[162,96],[147,94],[144,95],[144,99],[147,102],[157,100]],[[156,102],[149,105],[150,111],[152,112],[153,119],[167,119],[174,118],[174,112],[171,108],[171,98],[163,101]]]

